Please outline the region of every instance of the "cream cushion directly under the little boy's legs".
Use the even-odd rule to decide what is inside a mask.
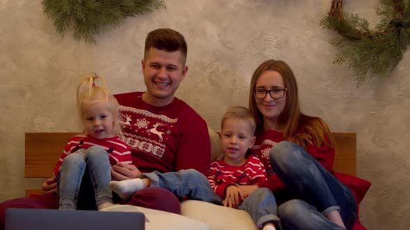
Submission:
[[[212,230],[258,230],[246,211],[197,200],[182,202],[181,215],[202,221],[211,226]]]

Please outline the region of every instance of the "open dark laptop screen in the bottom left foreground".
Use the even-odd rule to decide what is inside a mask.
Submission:
[[[140,212],[7,209],[6,230],[145,230]]]

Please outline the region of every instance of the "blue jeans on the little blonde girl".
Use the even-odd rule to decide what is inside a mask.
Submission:
[[[87,150],[73,152],[63,160],[57,183],[60,210],[76,209],[85,168],[88,168],[90,174],[97,206],[112,202],[112,191],[108,187],[111,180],[108,153],[101,146],[95,145]]]

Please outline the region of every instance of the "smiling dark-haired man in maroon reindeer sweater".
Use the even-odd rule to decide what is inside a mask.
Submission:
[[[113,166],[112,179],[131,179],[139,177],[141,172],[171,172],[186,168],[195,168],[207,175],[211,144],[206,122],[174,96],[188,71],[186,56],[185,39],[177,31],[160,28],[147,35],[142,60],[147,91],[115,96],[126,121],[124,137],[131,147],[133,165],[119,163]],[[7,208],[58,209],[56,178],[47,179],[42,189],[44,195],[1,203],[0,228],[4,228]],[[177,197],[162,188],[142,189],[122,203],[174,213],[181,211]]]

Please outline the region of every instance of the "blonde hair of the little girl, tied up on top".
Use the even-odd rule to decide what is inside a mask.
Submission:
[[[77,86],[77,108],[81,123],[84,119],[84,107],[99,101],[105,102],[111,114],[113,114],[113,134],[122,136],[120,105],[117,99],[110,94],[104,79],[99,77],[97,73],[90,73],[87,78],[81,78]],[[84,133],[87,134],[85,128]]]

